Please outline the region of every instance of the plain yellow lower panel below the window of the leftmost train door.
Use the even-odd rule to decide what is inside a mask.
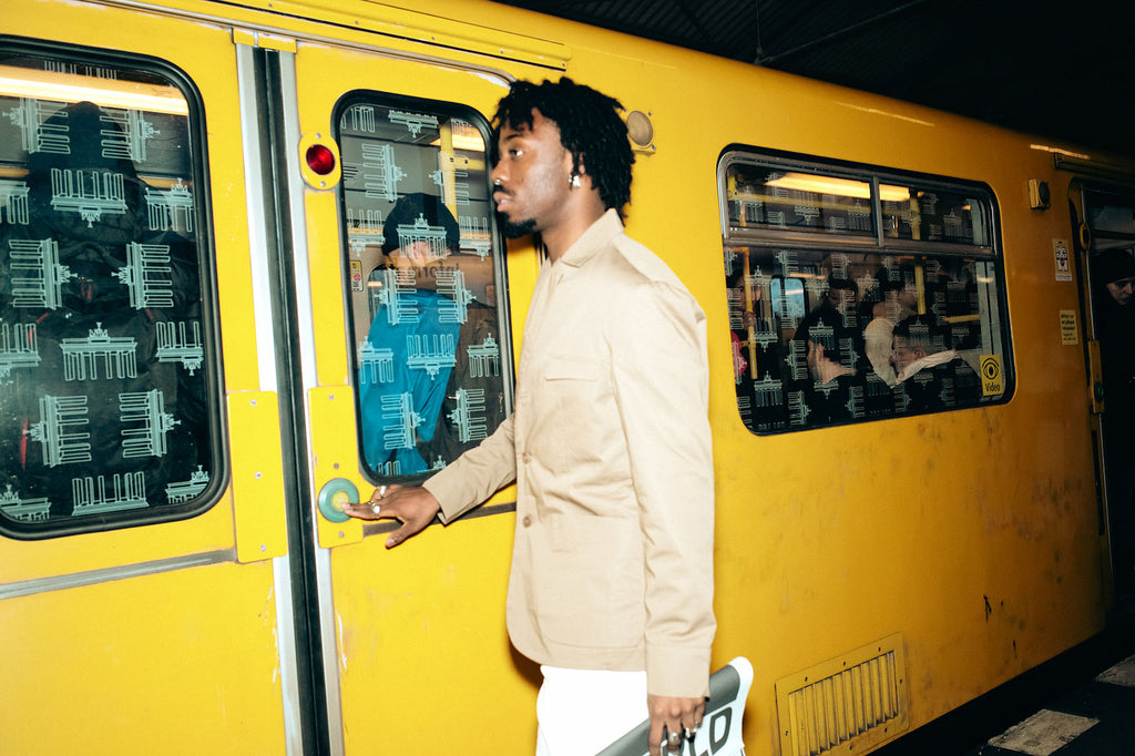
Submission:
[[[3,753],[284,754],[270,563],[0,604]]]

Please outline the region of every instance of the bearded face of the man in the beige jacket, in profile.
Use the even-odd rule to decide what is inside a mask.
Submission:
[[[505,234],[515,238],[554,226],[570,192],[571,153],[560,142],[560,127],[539,110],[532,126],[501,127],[499,162],[493,168],[493,200],[504,216]]]

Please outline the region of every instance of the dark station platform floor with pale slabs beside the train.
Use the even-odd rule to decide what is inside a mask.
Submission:
[[[1135,600],[1108,629],[880,756],[1135,756]]]

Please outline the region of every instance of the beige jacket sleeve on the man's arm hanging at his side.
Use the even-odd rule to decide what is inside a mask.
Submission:
[[[714,479],[705,313],[680,286],[634,287],[611,336],[646,564],[647,688],[708,694]]]

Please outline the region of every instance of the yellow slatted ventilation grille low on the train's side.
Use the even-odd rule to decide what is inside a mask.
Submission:
[[[781,754],[863,753],[908,728],[902,636],[776,682]]]

